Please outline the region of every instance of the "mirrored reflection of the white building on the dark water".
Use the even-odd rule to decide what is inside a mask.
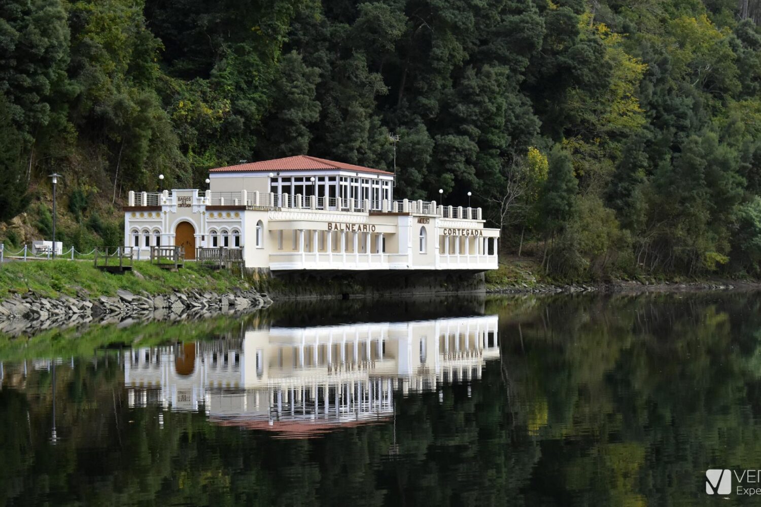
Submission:
[[[393,391],[479,379],[498,358],[496,315],[269,328],[219,341],[133,349],[132,407],[203,410],[216,423],[306,437],[393,416]]]

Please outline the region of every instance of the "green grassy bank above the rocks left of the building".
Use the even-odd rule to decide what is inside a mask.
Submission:
[[[11,293],[33,291],[40,296],[77,296],[94,298],[115,296],[116,290],[132,293],[170,293],[174,290],[212,290],[226,292],[234,287],[250,288],[240,274],[227,270],[211,271],[189,262],[177,273],[158,268],[148,261],[135,261],[132,272],[110,274],[94,268],[88,261],[6,262],[0,265],[0,300]]]

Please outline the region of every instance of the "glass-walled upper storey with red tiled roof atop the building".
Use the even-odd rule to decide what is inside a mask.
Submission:
[[[393,173],[307,155],[219,167],[209,171],[209,179],[212,198],[247,190],[291,198],[314,196],[320,207],[331,208],[337,198],[370,201],[375,210],[383,201],[393,201]]]

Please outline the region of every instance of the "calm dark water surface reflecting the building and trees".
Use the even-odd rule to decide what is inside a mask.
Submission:
[[[746,505],[705,470],[761,468],[759,347],[753,293],[0,337],[0,505]]]

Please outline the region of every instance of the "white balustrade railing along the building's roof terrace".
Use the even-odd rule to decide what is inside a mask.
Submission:
[[[187,196],[183,196],[187,198]],[[311,209],[323,211],[349,211],[355,213],[418,214],[457,220],[482,220],[481,208],[443,206],[436,201],[379,201],[317,197],[314,195],[274,194],[272,192],[198,192],[193,191],[187,204],[205,206],[242,206],[247,209]],[[174,192],[129,192],[129,206],[174,206]],[[182,204],[182,203],[180,203]]]

